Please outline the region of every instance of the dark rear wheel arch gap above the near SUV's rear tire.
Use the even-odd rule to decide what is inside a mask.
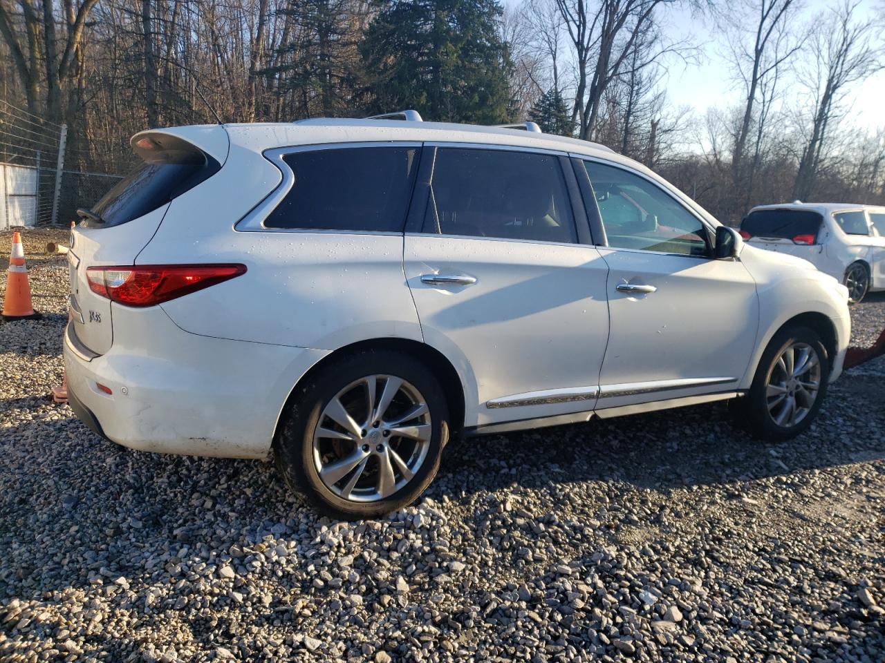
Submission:
[[[409,354],[419,362],[422,362],[428,369],[432,370],[435,377],[443,386],[446,400],[449,405],[450,416],[450,439],[458,437],[464,429],[465,417],[465,395],[464,385],[458,371],[449,361],[449,359],[435,347],[428,346],[412,339],[401,338],[385,338],[385,339],[366,339],[360,340],[349,345],[339,347],[335,351],[327,354],[319,362],[299,377],[296,384],[289,391],[286,402],[277,415],[276,425],[273,428],[273,444],[277,444],[280,434],[280,427],[283,415],[289,409],[292,400],[296,398],[298,387],[304,385],[313,376],[324,370],[330,362],[335,362],[348,354],[356,354],[365,352],[366,350],[393,350],[404,354]]]

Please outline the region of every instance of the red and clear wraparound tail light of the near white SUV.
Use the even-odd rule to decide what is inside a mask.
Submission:
[[[246,273],[244,264],[89,267],[93,293],[126,306],[154,306]]]

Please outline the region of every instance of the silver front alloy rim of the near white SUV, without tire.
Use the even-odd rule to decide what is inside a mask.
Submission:
[[[778,357],[768,377],[768,414],[782,428],[792,428],[814,407],[820,392],[820,357],[807,343],[794,343]]]

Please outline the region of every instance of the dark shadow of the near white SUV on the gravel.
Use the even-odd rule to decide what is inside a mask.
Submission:
[[[454,440],[426,494],[447,508],[463,508],[467,520],[478,493],[502,493],[489,496],[495,500],[532,490],[556,495],[576,483],[596,485],[584,514],[608,506],[592,502],[612,484],[648,489],[652,501],[679,488],[719,485],[729,491],[727,486],[735,484],[738,498],[741,484],[764,477],[885,459],[878,432],[885,424],[883,393],[881,386],[867,388],[880,379],[852,376],[836,383],[812,429],[778,446],[735,427],[724,404]],[[30,398],[20,405],[27,414],[4,429],[0,445],[7,466],[0,468],[0,484],[9,489],[0,492],[5,502],[0,510],[26,520],[40,513],[58,522],[43,530],[58,530],[55,536],[65,540],[65,549],[91,549],[91,542],[100,541],[103,552],[86,560],[79,577],[63,579],[52,568],[32,566],[42,544],[19,531],[9,551],[19,591],[22,586],[35,591],[85,586],[102,568],[105,575],[143,575],[147,581],[151,568],[116,561],[126,559],[123,552],[133,545],[155,552],[196,546],[212,563],[216,555],[227,554],[232,540],[257,543],[305,524],[332,524],[290,495],[271,463],[134,452],[89,432],[68,408]],[[76,444],[59,444],[61,439]],[[14,490],[12,476],[18,482]],[[47,476],[53,477],[50,483]],[[68,531],[70,522],[78,523],[75,533]],[[216,532],[208,540],[207,530]],[[9,581],[0,577],[0,586]]]

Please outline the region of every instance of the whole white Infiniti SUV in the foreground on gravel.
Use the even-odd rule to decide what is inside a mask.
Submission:
[[[834,278],[600,145],[405,117],[135,135],[73,231],[83,422],[273,453],[343,518],[411,502],[455,435],[737,397],[766,438],[812,423],[849,340]]]

